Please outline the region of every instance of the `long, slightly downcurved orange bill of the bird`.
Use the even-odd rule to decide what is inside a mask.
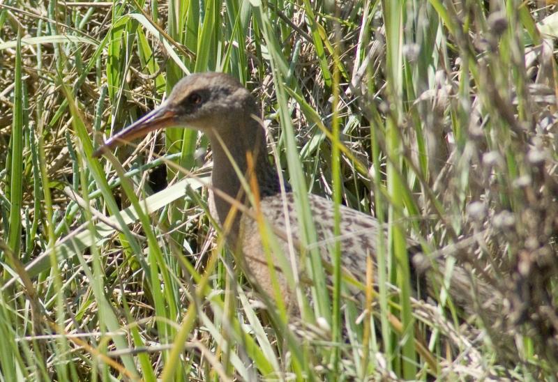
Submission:
[[[149,132],[160,130],[176,125],[176,114],[167,109],[167,105],[161,105],[152,112],[142,116],[124,130],[117,132],[107,139],[103,145],[93,153],[94,157],[100,157],[111,148],[122,146],[133,139],[145,137]]]

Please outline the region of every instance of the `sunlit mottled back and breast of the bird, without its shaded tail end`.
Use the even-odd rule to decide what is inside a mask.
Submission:
[[[365,283],[367,258],[370,257],[372,260],[375,260],[379,239],[378,234],[382,232],[385,235],[386,230],[380,226],[374,217],[346,206],[340,206],[340,235],[334,236],[333,202],[318,195],[309,194],[308,203],[313,224],[315,225],[317,240],[315,243],[310,243],[306,249],[317,248],[324,261],[324,266],[328,268],[328,264],[333,263],[331,254],[333,253],[335,242],[338,241],[340,243],[343,271],[354,277],[357,281]],[[270,252],[282,289],[282,296],[285,296],[285,300],[289,300],[291,292],[287,287],[285,276],[282,275],[281,261],[278,257],[284,254],[287,261],[294,258],[298,272],[305,266],[305,264],[300,263],[301,232],[303,227],[301,227],[297,217],[294,194],[287,192],[285,194],[264,197],[260,201],[259,207],[262,215],[269,222],[269,227],[275,237],[275,240],[269,242]],[[254,281],[266,293],[273,296],[270,270],[266,261],[266,253],[262,246],[262,228],[258,226],[253,217],[247,215],[242,217],[241,227],[241,247],[243,249],[243,258],[246,260],[246,266],[248,266],[249,272],[254,277]],[[276,247],[273,243],[279,247]],[[409,243],[409,245],[415,244],[414,242]],[[294,252],[294,256],[290,255],[292,252]],[[359,293],[359,291],[355,290],[355,293]]]

